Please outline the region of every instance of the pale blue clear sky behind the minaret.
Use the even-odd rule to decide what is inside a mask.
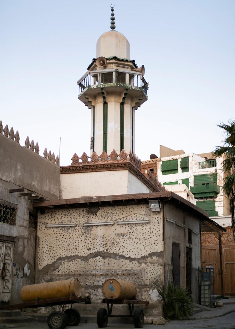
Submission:
[[[114,1],[114,0],[112,0]],[[107,0],[0,1],[0,120],[71,164],[90,154],[91,113],[77,80],[110,30]],[[116,30],[145,66],[148,101],[135,113],[135,151],[159,145],[204,153],[221,145],[219,122],[235,118],[235,1],[118,0]]]

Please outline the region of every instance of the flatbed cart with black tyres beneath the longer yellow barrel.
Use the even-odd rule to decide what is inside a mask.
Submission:
[[[46,306],[61,306],[61,311],[53,311],[47,317],[47,324],[50,329],[64,329],[66,326],[77,326],[80,322],[80,314],[72,308],[74,303],[87,303],[87,298],[77,296],[67,296],[61,298],[52,298],[44,300],[36,300],[32,302],[4,305],[0,306],[0,310],[23,310],[27,308],[46,307]],[[70,308],[65,310],[65,305],[71,304]]]

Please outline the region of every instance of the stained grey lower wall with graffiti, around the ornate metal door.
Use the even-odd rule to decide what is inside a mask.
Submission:
[[[9,257],[7,261],[5,260],[12,279],[9,296],[12,304],[21,303],[21,288],[34,283],[36,234],[35,229],[29,228],[29,212],[34,211],[30,209],[31,202],[27,200],[27,197],[19,197],[19,193],[9,193],[9,189],[16,188],[18,188],[17,185],[0,179],[0,205],[16,208],[15,225],[0,222],[0,241],[13,247],[12,260],[9,260]],[[8,285],[9,276],[6,279]],[[0,297],[3,300],[4,296],[1,293]]]

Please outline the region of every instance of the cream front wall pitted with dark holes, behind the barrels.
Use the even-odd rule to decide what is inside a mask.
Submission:
[[[121,224],[118,220],[149,219],[150,223]],[[113,221],[114,225],[83,226],[84,222]],[[75,223],[47,228],[46,224]],[[99,303],[108,278],[134,282],[138,298],[155,303],[156,287],[164,283],[162,212],[148,204],[39,212],[36,282],[78,277],[83,294]]]

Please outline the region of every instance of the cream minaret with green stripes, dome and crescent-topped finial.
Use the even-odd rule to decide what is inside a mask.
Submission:
[[[78,99],[91,109],[91,154],[134,152],[135,110],[147,100],[144,65],[130,59],[130,44],[115,28],[111,5],[111,31],[100,36],[96,59],[77,82]]]

